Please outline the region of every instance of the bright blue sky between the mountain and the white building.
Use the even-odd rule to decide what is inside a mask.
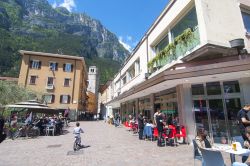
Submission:
[[[169,0],[48,0],[54,7],[86,13],[100,20],[130,51],[141,40]]]

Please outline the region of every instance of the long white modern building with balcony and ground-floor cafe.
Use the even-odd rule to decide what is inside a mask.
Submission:
[[[160,108],[179,117],[189,140],[202,126],[229,143],[250,103],[249,52],[249,0],[172,0],[109,84],[105,106],[123,120]]]

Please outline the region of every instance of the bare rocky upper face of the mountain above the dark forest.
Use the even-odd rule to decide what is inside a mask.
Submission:
[[[44,31],[50,30],[82,37],[88,43],[82,47],[95,50],[86,54],[89,56],[122,61],[128,55],[117,37],[100,21],[83,13],[71,13],[63,7],[54,9],[47,0],[0,0],[0,18],[1,27],[18,34],[42,37],[47,35]]]

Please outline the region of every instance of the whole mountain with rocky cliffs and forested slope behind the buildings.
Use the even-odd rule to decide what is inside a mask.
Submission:
[[[3,76],[18,76],[18,50],[24,49],[83,56],[100,68],[104,82],[129,53],[100,21],[54,9],[47,0],[0,0],[0,36]]]

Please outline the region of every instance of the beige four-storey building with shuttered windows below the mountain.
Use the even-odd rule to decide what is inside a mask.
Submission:
[[[33,51],[20,53],[19,85],[41,93],[51,108],[69,108],[72,118],[85,110],[87,69],[84,58]]]

